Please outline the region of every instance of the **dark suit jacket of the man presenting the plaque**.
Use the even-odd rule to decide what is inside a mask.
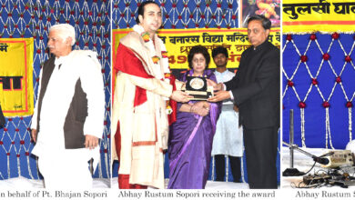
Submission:
[[[237,74],[225,83],[239,107],[239,125],[279,127],[279,49],[265,41],[243,52]]]

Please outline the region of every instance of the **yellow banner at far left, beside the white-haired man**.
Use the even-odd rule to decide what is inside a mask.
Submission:
[[[0,104],[4,115],[34,112],[33,38],[0,38]]]

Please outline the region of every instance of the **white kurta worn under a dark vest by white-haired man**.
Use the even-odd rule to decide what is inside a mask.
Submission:
[[[78,185],[71,185],[81,188],[83,185],[87,185],[87,180],[92,181],[91,175],[88,172],[87,161],[94,158],[94,162],[97,164],[99,147],[97,146],[94,150],[85,148],[66,149],[63,127],[67,111],[75,93],[76,82],[80,78],[81,86],[87,98],[84,135],[95,135],[101,138],[105,117],[105,91],[101,75],[101,65],[96,59],[96,53],[80,50],[75,50],[69,55],[56,58],[55,65],[46,88],[46,94],[43,97],[41,120],[39,122],[41,128],[32,154],[39,157],[39,170],[45,177],[46,188],[48,186],[67,187],[67,183],[56,181],[63,177],[72,177],[73,180],[70,182],[78,183]],[[40,87],[38,91],[40,91]],[[37,109],[36,104],[31,125],[33,129],[36,128],[37,124]],[[83,163],[83,165],[78,163]],[[68,172],[67,169],[71,169],[71,172]],[[80,176],[82,178],[77,178]]]

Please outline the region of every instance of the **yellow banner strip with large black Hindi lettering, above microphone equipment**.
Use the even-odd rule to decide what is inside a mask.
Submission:
[[[354,0],[282,1],[283,33],[353,33],[354,30]]]

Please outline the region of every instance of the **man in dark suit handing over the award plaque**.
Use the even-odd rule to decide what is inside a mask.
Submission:
[[[277,188],[279,129],[279,49],[268,42],[271,22],[262,15],[248,20],[252,45],[243,52],[232,80],[214,85],[210,102],[232,98],[239,107],[250,188]],[[236,127],[238,128],[238,127]]]

